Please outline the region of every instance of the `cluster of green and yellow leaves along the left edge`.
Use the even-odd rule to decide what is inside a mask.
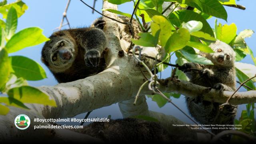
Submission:
[[[28,86],[26,80],[42,80],[46,78],[44,69],[34,60],[24,56],[9,56],[8,53],[17,52],[28,46],[35,46],[49,40],[37,27],[25,28],[16,32],[18,18],[28,8],[24,2],[7,4],[0,2],[0,114],[9,112],[8,106],[29,109],[24,103],[37,103],[56,106],[54,100],[38,90]]]

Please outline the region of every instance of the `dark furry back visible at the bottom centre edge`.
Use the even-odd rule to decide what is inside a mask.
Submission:
[[[74,129],[72,129],[74,130]],[[185,136],[170,135],[158,122],[149,122],[135,118],[110,120],[110,122],[93,122],[76,132],[99,138],[104,142],[190,142]]]

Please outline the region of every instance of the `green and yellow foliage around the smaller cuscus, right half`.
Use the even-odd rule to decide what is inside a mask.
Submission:
[[[138,0],[134,2],[134,6],[136,2]],[[164,12],[162,8],[163,2],[174,2],[173,6],[175,8],[177,6],[182,6],[183,8],[191,6],[194,7],[194,10],[177,10],[164,16],[162,14]],[[124,3],[124,1],[119,3]],[[216,40],[221,40],[234,48],[237,61],[235,64],[236,76],[240,82],[244,82],[254,76],[256,67],[255,65],[244,64],[238,61],[243,60],[249,55],[254,64],[256,64],[256,58],[245,42],[245,38],[252,36],[254,32],[252,30],[244,30],[237,34],[236,24],[217,24],[217,20],[215,28],[211,28],[207,19],[216,17],[227,20],[228,15],[222,4],[236,4],[236,2],[235,0],[140,0],[135,15],[140,16],[140,14],[144,14],[144,20],[150,22],[150,30],[140,33],[140,39],[132,39],[132,42],[140,46],[152,47],[158,44],[164,47],[167,53],[163,58],[164,62],[170,62],[171,58],[176,57],[176,63],[182,65],[185,62],[213,64],[210,60],[198,55],[196,52],[199,50],[211,53],[213,50],[208,45]],[[111,12],[111,10],[108,11]],[[130,15],[119,11],[112,10],[112,12],[130,17]],[[158,65],[158,70],[162,71],[166,67],[165,64],[160,64]],[[180,70],[176,70],[176,76],[180,79],[188,80],[186,75]],[[255,82],[256,79],[250,80],[246,83],[246,86],[256,90]],[[165,95],[168,98],[170,96],[176,96],[177,98],[180,96],[172,93],[165,93]],[[160,95],[148,97],[152,98],[159,107],[167,103]],[[252,134],[255,132],[255,119],[253,115],[255,107],[254,104],[248,104],[247,107],[247,110],[242,112],[240,120],[237,120],[236,123],[242,124],[244,132]]]

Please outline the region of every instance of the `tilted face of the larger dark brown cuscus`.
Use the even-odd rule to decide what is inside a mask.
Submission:
[[[53,34],[42,49],[42,62],[53,72],[63,72],[72,66],[76,44],[65,35]]]

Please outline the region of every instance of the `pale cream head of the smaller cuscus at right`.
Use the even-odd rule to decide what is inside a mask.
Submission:
[[[219,67],[233,66],[236,53],[226,43],[217,40],[215,43],[210,44],[214,53],[206,54],[206,58]]]

